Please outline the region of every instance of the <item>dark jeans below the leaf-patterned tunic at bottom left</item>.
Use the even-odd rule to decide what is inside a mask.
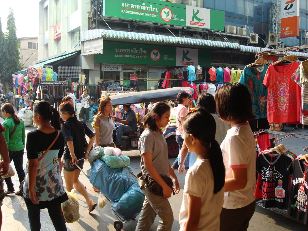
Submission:
[[[30,223],[30,231],[40,231],[41,230],[41,220],[39,209],[36,205],[26,205],[28,209],[28,218]],[[47,207],[49,217],[56,231],[67,231],[64,218],[61,214],[61,204],[51,205]]]

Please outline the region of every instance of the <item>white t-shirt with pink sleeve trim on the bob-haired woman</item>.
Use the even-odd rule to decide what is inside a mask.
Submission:
[[[247,184],[241,190],[225,192],[223,208],[238,209],[256,198],[256,141],[248,123],[230,128],[220,148],[226,168],[226,178],[232,178],[232,168],[247,168]]]

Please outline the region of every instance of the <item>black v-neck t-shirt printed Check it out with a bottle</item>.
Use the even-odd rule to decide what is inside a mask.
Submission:
[[[271,163],[272,162],[272,163]],[[265,208],[288,208],[288,167],[292,160],[283,154],[261,154],[256,170],[261,174],[262,201]]]

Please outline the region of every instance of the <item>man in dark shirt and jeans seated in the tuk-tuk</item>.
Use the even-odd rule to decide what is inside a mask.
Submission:
[[[122,116],[122,119],[116,117],[114,118],[114,120],[118,122],[114,125],[114,129],[117,130],[114,141],[117,148],[121,147],[121,138],[124,132],[135,132],[138,129],[136,114],[131,109],[131,105],[123,105],[123,110],[125,112]]]

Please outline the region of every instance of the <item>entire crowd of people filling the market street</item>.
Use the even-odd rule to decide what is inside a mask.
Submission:
[[[111,115],[112,100],[103,96],[92,122],[92,132],[87,126],[89,118],[83,122],[83,114],[91,104],[87,89],[79,99],[75,99],[69,89],[65,92],[67,96],[57,110],[52,104],[52,95],[43,91],[44,100],[33,106],[33,120],[38,128],[27,134],[26,143],[23,121],[17,117],[13,106],[10,103],[1,106],[5,121],[3,126],[0,125],[0,173],[1,176],[6,174],[13,160],[19,182],[24,180],[24,184],[23,192],[15,192],[12,180],[6,178],[7,190],[4,191],[0,177],[0,205],[6,194],[22,195],[33,231],[40,230],[39,214],[45,208],[55,230],[67,230],[61,213],[61,203],[68,199],[62,172],[66,189],[71,191],[74,187],[85,198],[91,213],[96,204],[79,181],[79,168],[83,168],[92,147],[120,147],[123,132],[137,130],[136,115],[130,105],[123,105],[124,115],[115,118]],[[215,98],[201,94],[198,107],[190,110],[187,108],[189,97],[185,91],[177,96],[176,141],[180,154],[172,166],[161,128],[169,123],[174,103],[168,100],[151,103],[144,116],[145,130],[139,138],[138,149],[143,173],[140,188],[145,200],[136,230],[149,230],[156,215],[160,217],[157,230],[172,229],[173,213],[168,198],[180,190],[174,170],[180,174],[186,170],[179,217],[181,231],[247,230],[255,210],[256,186],[255,140],[247,123],[254,118],[249,92],[240,83],[229,83],[216,91]],[[75,101],[82,104],[83,113],[79,118],[75,113]],[[228,123],[231,125],[229,130]],[[114,129],[117,130],[115,140],[112,138]],[[85,136],[89,137],[88,143]],[[26,172],[22,168],[25,147]],[[151,191],[147,176],[161,186],[162,195]],[[167,184],[169,176],[174,187]],[[1,219],[0,213],[0,224]]]

